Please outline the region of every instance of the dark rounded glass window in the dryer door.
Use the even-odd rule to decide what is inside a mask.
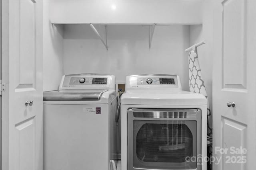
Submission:
[[[136,157],[142,162],[179,163],[192,155],[193,135],[186,124],[146,123],[137,133]]]

